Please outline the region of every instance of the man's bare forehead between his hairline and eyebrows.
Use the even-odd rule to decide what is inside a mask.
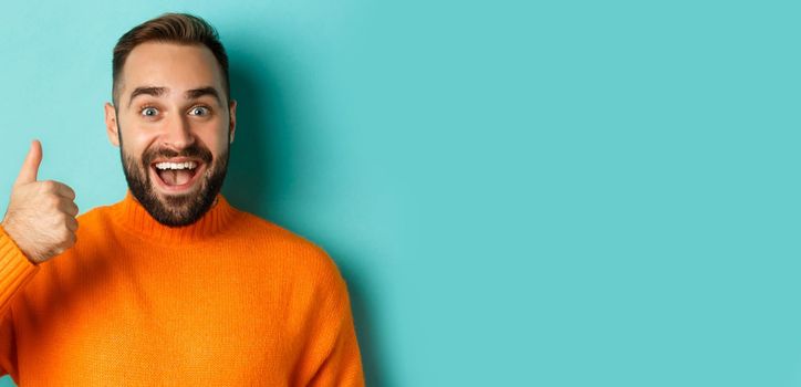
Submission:
[[[159,86],[183,93],[199,86],[222,91],[221,70],[205,45],[147,42],[128,54],[121,74],[122,100],[136,87]],[[177,93],[176,93],[177,94]]]

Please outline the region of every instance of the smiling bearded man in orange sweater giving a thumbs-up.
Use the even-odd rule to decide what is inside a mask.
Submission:
[[[0,370],[21,386],[362,386],[321,248],[219,195],[237,103],[214,29],[164,14],[114,49],[124,200],[75,219],[33,142],[0,222]],[[79,228],[80,223],[80,228]]]

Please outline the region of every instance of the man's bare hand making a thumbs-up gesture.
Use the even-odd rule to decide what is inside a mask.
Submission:
[[[64,184],[37,181],[42,144],[34,140],[11,190],[0,226],[34,263],[44,262],[75,244],[75,191]]]

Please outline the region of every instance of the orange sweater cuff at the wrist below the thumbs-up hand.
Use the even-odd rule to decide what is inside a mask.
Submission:
[[[40,269],[0,227],[0,312]]]

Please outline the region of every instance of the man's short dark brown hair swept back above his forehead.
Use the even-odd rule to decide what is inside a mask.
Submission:
[[[112,60],[112,97],[114,106],[117,105],[119,91],[117,90],[119,75],[125,65],[125,60],[137,45],[145,42],[167,42],[178,44],[201,44],[207,46],[217,59],[222,70],[222,87],[226,101],[231,101],[231,92],[228,83],[228,55],[220,43],[217,30],[205,20],[188,13],[165,13],[156,19],[150,19],[126,32],[114,46],[114,59]]]

